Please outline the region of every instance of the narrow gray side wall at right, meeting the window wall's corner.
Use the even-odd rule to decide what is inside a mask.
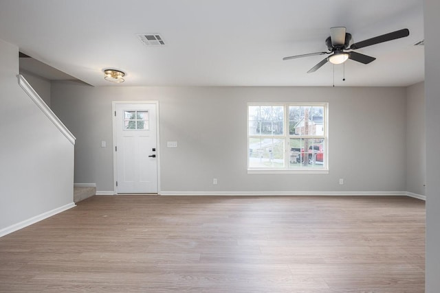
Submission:
[[[425,84],[406,89],[406,191],[425,196]]]

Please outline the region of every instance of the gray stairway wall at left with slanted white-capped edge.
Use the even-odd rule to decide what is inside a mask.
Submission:
[[[22,221],[73,204],[74,146],[19,86],[18,47],[0,40],[0,51],[3,235]]]

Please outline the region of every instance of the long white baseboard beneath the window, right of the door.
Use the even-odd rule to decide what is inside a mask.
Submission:
[[[405,191],[161,191],[160,196],[406,196]]]

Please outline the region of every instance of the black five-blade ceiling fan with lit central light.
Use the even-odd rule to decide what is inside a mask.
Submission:
[[[395,32],[390,32],[388,34],[382,34],[380,36],[375,36],[374,38],[369,38],[367,40],[362,40],[358,43],[351,44],[351,34],[347,32],[345,27],[331,27],[330,28],[330,36],[325,40],[325,45],[329,49],[329,52],[316,52],[309,54],[302,54],[296,56],[289,56],[283,58],[283,60],[295,59],[295,58],[303,58],[308,56],[316,56],[316,55],[325,55],[331,54],[329,57],[325,58],[317,65],[312,67],[307,73],[312,73],[320,69],[322,65],[325,65],[327,62],[331,62],[333,64],[342,64],[347,59],[355,60],[364,64],[369,64],[376,60],[376,58],[367,56],[364,54],[360,54],[355,51],[344,51],[344,50],[355,50],[363,47],[376,45],[379,43],[388,42],[388,40],[395,40],[397,38],[404,38],[405,36],[409,36],[410,31],[408,29],[397,30]]]

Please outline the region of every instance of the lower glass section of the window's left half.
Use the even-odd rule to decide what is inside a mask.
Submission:
[[[285,167],[284,145],[284,139],[250,139],[249,167]]]

